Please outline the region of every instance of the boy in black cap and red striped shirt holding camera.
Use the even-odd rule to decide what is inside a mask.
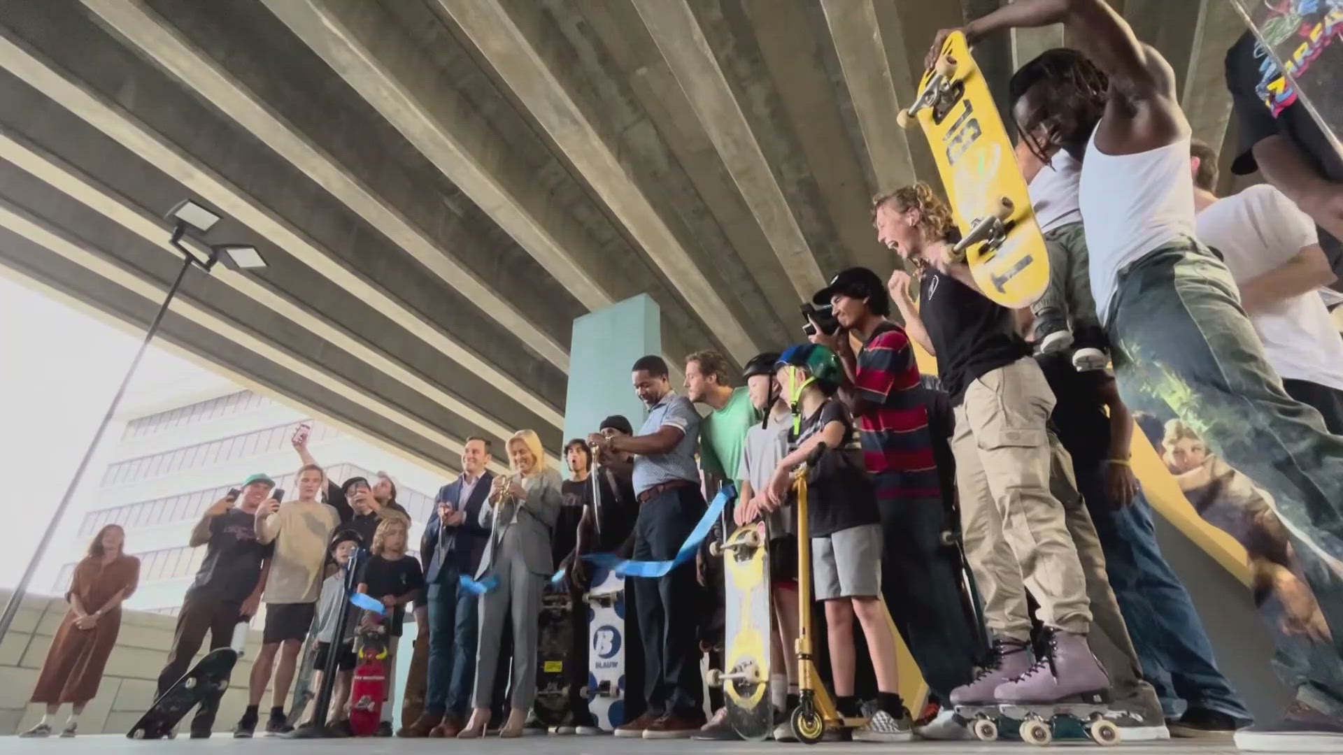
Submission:
[[[960,605],[955,551],[941,544],[950,527],[913,347],[888,320],[886,286],[866,267],[843,270],[813,302],[830,306],[838,325],[826,333],[814,324],[811,341],[843,365],[838,398],[858,419],[864,463],[877,486],[886,607],[932,697],[945,705],[974,673],[976,631]],[[850,337],[862,344],[857,353]]]

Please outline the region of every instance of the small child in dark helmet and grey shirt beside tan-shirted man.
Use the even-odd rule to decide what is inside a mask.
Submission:
[[[345,615],[345,626],[336,630],[336,619],[340,617],[341,605],[345,602],[345,568],[349,559],[360,547],[359,533],[353,529],[342,529],[332,537],[330,563],[326,564],[326,580],[322,582],[322,595],[317,599],[317,652],[313,654],[312,689],[321,689],[322,676],[326,673],[326,660],[330,653],[336,653],[336,684],[332,686],[330,709],[326,713],[326,728],[332,732],[341,732],[349,716],[345,700],[349,697],[349,684],[355,674],[355,614],[357,609],[351,609]],[[336,639],[338,637],[338,639]],[[334,645],[334,650],[333,650]],[[302,723],[287,736],[308,739],[321,736],[313,725],[313,716],[317,715],[316,697],[304,707]],[[348,728],[346,728],[348,731]]]

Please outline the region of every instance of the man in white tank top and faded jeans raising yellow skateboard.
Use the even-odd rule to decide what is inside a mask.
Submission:
[[[1017,0],[964,31],[972,44],[995,31],[1054,23],[1091,60],[1078,58],[1037,82],[1019,130],[1030,138],[1046,125],[1052,137],[1069,140],[1046,148],[1082,154],[1092,293],[1124,403],[1198,429],[1211,451],[1272,494],[1303,541],[1303,560],[1343,556],[1343,438],[1283,390],[1232,275],[1195,240],[1190,126],[1170,63],[1104,0]],[[1343,617],[1340,591],[1311,587],[1330,603],[1327,615]],[[1331,630],[1343,645],[1343,621]],[[1292,654],[1299,648],[1279,643],[1279,656]],[[1297,695],[1283,719],[1237,732],[1237,746],[1343,751],[1343,678],[1334,676],[1293,676]]]

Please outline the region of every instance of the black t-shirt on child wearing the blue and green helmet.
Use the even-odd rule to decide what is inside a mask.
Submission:
[[[813,537],[880,521],[877,490],[862,465],[862,446],[842,403],[826,399],[811,416],[803,418],[798,431],[788,433],[788,450],[796,450],[831,422],[843,425],[843,441],[807,474],[807,527]]]

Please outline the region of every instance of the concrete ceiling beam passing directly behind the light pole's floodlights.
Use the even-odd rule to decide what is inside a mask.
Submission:
[[[163,220],[154,214],[118,195],[115,191],[101,185],[78,168],[4,128],[0,128],[0,159],[9,161],[90,210],[106,216],[132,234],[161,249],[165,254],[180,258],[180,253],[168,243]],[[189,238],[184,239],[184,243],[188,246],[200,246]],[[482,412],[470,402],[430,383],[416,372],[408,369],[400,360],[351,335],[340,325],[304,306],[302,302],[281,294],[258,277],[220,266],[215,269],[212,278],[294,325],[304,328],[314,337],[340,348],[381,371],[388,378],[418,391],[446,411],[475,425],[482,433],[501,439],[508,438],[513,433],[513,429],[505,426],[494,416]]]

